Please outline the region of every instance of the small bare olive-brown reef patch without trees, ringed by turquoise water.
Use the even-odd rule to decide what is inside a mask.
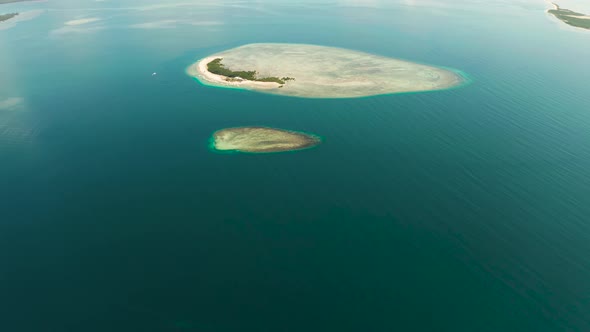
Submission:
[[[217,151],[273,153],[303,150],[321,142],[318,136],[268,127],[236,127],[213,133],[212,148]]]

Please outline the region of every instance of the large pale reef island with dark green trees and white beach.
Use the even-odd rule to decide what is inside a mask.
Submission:
[[[255,73],[255,79],[211,72],[209,66],[215,61],[231,73]],[[205,85],[305,98],[442,90],[466,81],[458,71],[405,60],[335,47],[272,43],[249,44],[208,56],[191,65],[187,73]]]

